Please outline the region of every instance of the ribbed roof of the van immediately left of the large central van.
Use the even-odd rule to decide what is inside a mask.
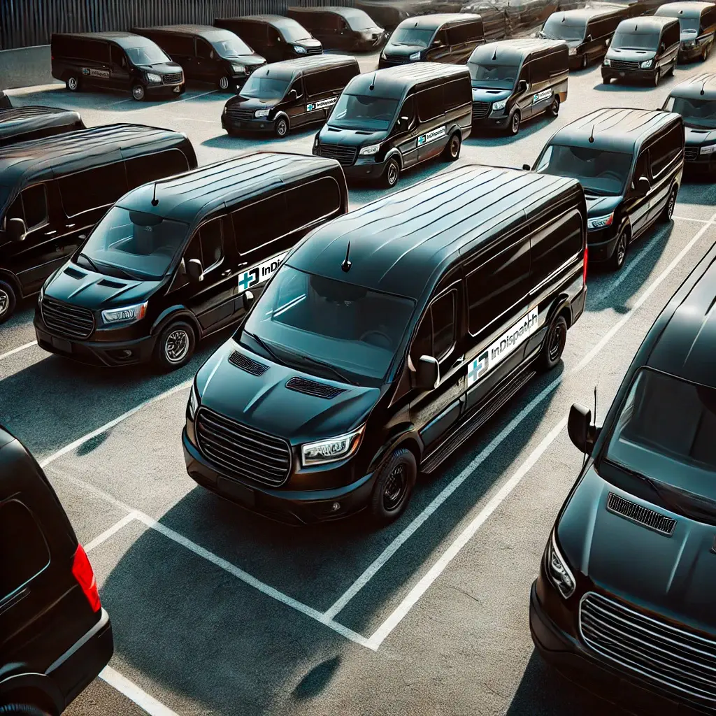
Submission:
[[[122,197],[121,205],[163,218],[195,224],[223,206],[269,193],[306,176],[336,173],[336,160],[304,154],[253,152],[205,165],[156,182]]]

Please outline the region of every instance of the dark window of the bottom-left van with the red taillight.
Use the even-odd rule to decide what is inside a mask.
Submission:
[[[0,602],[49,564],[42,531],[32,513],[17,500],[0,504],[0,564]]]

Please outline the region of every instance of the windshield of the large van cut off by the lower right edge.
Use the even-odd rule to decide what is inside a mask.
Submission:
[[[610,463],[716,498],[716,389],[643,368],[606,448]]]

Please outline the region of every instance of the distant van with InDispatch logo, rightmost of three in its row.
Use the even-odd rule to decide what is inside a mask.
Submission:
[[[567,98],[569,48],[562,40],[490,42],[468,62],[473,84],[473,127],[520,131],[523,120],[556,117]]]

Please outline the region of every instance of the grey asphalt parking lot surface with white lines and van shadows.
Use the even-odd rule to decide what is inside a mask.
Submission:
[[[364,71],[376,56],[360,57]],[[459,163],[533,163],[551,132],[599,107],[662,105],[657,88],[575,72],[559,116],[517,137],[477,135]],[[90,125],[185,132],[199,163],[250,150],[310,153],[286,140],[228,137],[228,95],[180,100],[14,90],[16,105],[77,109]],[[317,130],[317,127],[316,127]],[[452,165],[451,165],[452,166]],[[448,169],[405,173],[398,186]],[[357,207],[383,195],[352,187]],[[716,187],[684,183],[674,220],[632,246],[619,274],[589,274],[586,311],[560,365],[527,385],[437,474],[407,512],[374,531],[361,516],[295,528],[242,511],[185,472],[188,385],[229,334],[172,374],[73,364],[34,345],[34,301],[0,330],[0,423],[32,450],[87,546],[115,632],[115,657],[69,709],[110,714],[587,716],[614,708],[548,671],[534,652],[528,594],[556,513],[581,467],[566,435],[573,402],[599,415],[667,299],[716,241]]]

